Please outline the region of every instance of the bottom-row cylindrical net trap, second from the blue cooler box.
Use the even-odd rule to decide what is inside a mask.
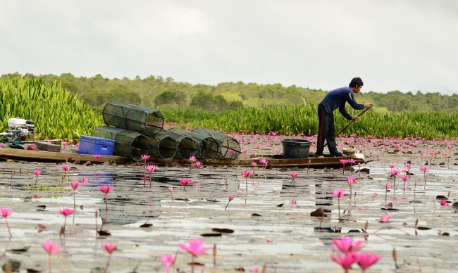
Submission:
[[[151,155],[152,158],[169,160],[176,155],[178,142],[171,133],[166,130],[161,130],[161,132],[157,134],[146,134],[146,136],[151,146],[149,155]]]

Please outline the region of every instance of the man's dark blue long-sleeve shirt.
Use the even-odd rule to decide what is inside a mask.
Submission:
[[[330,91],[324,97],[323,101],[318,104],[318,108],[323,110],[328,115],[332,114],[335,109],[339,108],[339,112],[347,119],[352,120],[352,116],[345,110],[345,102],[352,106],[355,110],[364,109],[364,104],[358,104],[354,101],[354,93],[349,87],[340,87]]]

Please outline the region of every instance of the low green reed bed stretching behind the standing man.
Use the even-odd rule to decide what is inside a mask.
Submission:
[[[361,111],[347,109],[350,115]],[[318,132],[317,106],[290,105],[243,108],[222,113],[194,109],[163,111],[168,122],[191,122],[192,127],[209,127],[224,132],[249,131],[259,134],[314,135]],[[335,112],[335,130],[345,127],[349,120]],[[375,113],[361,115],[344,134],[359,136],[450,138],[458,135],[456,113]]]

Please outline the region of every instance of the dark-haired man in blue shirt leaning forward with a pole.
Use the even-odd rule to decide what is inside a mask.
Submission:
[[[330,91],[318,104],[318,138],[316,139],[316,157],[323,157],[324,140],[328,141],[330,156],[342,156],[335,146],[334,110],[339,108],[339,112],[347,120],[357,120],[358,116],[352,117],[345,110],[345,102],[355,110],[372,108],[372,103],[358,104],[354,101],[354,93],[358,94],[363,87],[363,81],[359,77],[354,77],[348,87],[340,87]]]

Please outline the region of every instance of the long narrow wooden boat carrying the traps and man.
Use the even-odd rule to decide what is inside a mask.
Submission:
[[[204,161],[204,165],[233,165],[251,167],[252,162],[261,165],[259,160],[266,158],[268,161],[267,167],[339,167],[342,166],[340,159],[354,158],[357,163],[367,163],[372,159],[357,158],[361,156],[338,157],[338,158],[297,158],[285,159],[281,155],[240,155],[236,160],[221,160],[213,159],[211,161]],[[22,150],[16,148],[0,148],[0,160],[21,160],[27,162],[69,162],[74,163],[78,160],[81,164],[91,161],[94,163],[112,163],[112,164],[132,164],[135,163],[131,158],[117,155],[103,155],[99,160],[96,160],[92,155],[83,155],[78,153],[54,153],[48,151],[32,151]],[[171,165],[178,163],[180,165],[189,165],[190,162],[181,158],[173,158],[171,160],[162,160],[157,158],[149,158],[148,163],[159,165]]]

